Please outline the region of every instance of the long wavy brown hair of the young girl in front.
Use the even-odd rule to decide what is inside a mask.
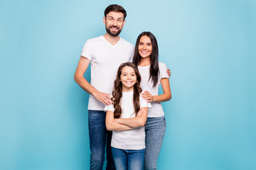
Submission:
[[[114,90],[112,92],[112,101],[114,103],[114,118],[120,118],[122,115],[122,108],[121,108],[121,98],[122,98],[122,82],[120,81],[120,76],[122,74],[123,67],[132,67],[137,77],[137,81],[134,84],[134,96],[133,96],[133,103],[134,103],[134,113],[137,115],[139,112],[139,95],[142,93],[142,88],[140,87],[140,83],[142,80],[141,75],[139,74],[139,69],[135,64],[132,62],[125,62],[122,63],[118,70],[117,70],[117,79],[114,80]]]

